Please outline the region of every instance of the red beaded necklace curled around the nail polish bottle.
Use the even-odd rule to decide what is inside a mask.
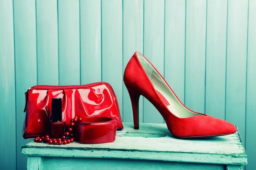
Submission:
[[[67,131],[65,132],[65,134],[63,134],[63,136],[61,138],[51,138],[49,135],[45,135],[45,136],[38,136],[35,137],[34,141],[41,143],[49,143],[49,144],[70,144],[72,142],[74,142],[74,134],[73,134],[73,127],[75,125],[76,122],[82,122],[82,118],[78,118],[78,117],[74,117],[74,119],[70,120],[70,127],[67,129]],[[69,138],[68,138],[69,137]]]

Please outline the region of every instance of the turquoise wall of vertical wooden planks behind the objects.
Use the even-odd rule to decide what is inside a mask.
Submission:
[[[0,0],[1,168],[26,169],[27,87],[106,81],[132,122],[122,77],[135,51],[187,107],[237,125],[256,167],[256,0]],[[141,101],[141,122],[164,122]]]

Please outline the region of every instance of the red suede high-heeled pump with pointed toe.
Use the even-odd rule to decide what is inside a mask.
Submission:
[[[132,102],[134,129],[139,129],[139,96],[142,95],[161,113],[176,137],[210,137],[236,132],[233,124],[183,105],[163,76],[139,52],[135,52],[126,66],[124,83]]]

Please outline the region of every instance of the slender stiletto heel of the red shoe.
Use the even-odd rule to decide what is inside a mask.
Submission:
[[[132,102],[134,129],[139,129],[139,96],[140,94],[130,87],[127,87],[127,90]]]

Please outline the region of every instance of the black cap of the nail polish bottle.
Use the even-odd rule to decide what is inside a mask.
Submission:
[[[52,121],[62,120],[61,98],[52,98]]]

